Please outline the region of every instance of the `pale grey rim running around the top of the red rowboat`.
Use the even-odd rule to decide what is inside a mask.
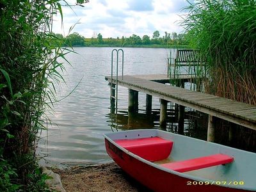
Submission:
[[[143,132],[147,132],[147,131],[156,131],[157,134],[156,136],[159,136],[158,132],[163,132],[164,134],[174,134],[174,135],[178,135],[180,137],[184,137],[184,138],[189,138],[191,140],[197,140],[197,141],[204,141],[204,140],[198,140],[196,138],[190,138],[188,136],[183,136],[183,135],[180,135],[180,134],[175,134],[175,133],[172,133],[172,132],[166,132],[166,131],[162,131],[162,130],[159,130],[159,129],[134,129],[134,130],[127,130],[127,131],[122,131],[122,132],[134,132],[134,131],[143,131]],[[107,134],[103,134],[104,138],[106,138],[106,140],[108,140],[110,143],[112,143],[113,145],[115,145],[115,147],[119,148],[120,150],[122,150],[123,152],[125,152],[125,154],[127,154],[128,156],[131,156],[135,159],[137,159],[138,161],[141,161],[142,163],[145,163],[145,164],[148,164],[149,166],[153,166],[154,168],[157,168],[158,170],[162,170],[164,172],[168,172],[168,173],[171,173],[173,175],[177,175],[179,177],[183,177],[185,179],[191,179],[191,180],[195,180],[195,181],[202,181],[202,182],[210,182],[211,185],[214,185],[214,186],[219,186],[219,187],[223,187],[223,188],[234,188],[234,189],[242,189],[242,190],[248,190],[248,191],[256,191],[255,188],[250,188],[248,186],[246,186],[246,184],[244,184],[243,186],[235,186],[235,185],[225,185],[225,184],[216,184],[216,180],[212,180],[212,179],[205,179],[204,177],[196,177],[194,175],[189,175],[189,174],[186,174],[185,172],[184,173],[180,173],[180,172],[176,172],[174,170],[170,170],[168,168],[164,168],[163,166],[159,165],[159,164],[156,164],[156,163],[152,163],[150,161],[147,161],[146,159],[143,159],[142,157],[140,156],[137,156],[136,154],[133,154],[132,152],[130,152],[129,150],[125,149],[124,147],[118,145],[114,140],[112,140],[111,138],[109,138],[109,134],[115,134],[115,132],[110,132],[110,133],[107,133]],[[159,136],[161,138],[161,136]],[[205,142],[209,142],[209,141],[205,141]],[[211,143],[212,145],[217,145],[217,146],[222,146],[222,147],[227,147],[227,148],[232,148],[232,147],[228,147],[228,146],[225,146],[225,145],[220,145],[218,143],[212,143],[212,142],[209,142]],[[235,150],[238,150],[238,151],[241,151],[241,152],[247,152],[247,153],[250,153],[250,154],[255,154],[253,152],[248,152],[248,151],[245,151],[245,150],[240,150],[240,149],[237,149],[237,148],[232,148],[232,149],[235,149]]]

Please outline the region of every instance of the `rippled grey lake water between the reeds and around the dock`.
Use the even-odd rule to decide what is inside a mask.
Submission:
[[[76,47],[70,53],[63,74],[65,83],[56,86],[58,99],[68,95],[47,113],[52,120],[38,143],[42,164],[97,164],[111,161],[102,134],[121,129],[159,129],[159,99],[153,97],[153,115],[145,114],[145,94],[139,93],[139,114],[127,113],[128,89],[118,87],[118,113],[111,115],[109,86],[104,76],[111,74],[111,51],[106,47]],[[173,51],[173,50],[172,50]],[[124,48],[125,74],[164,74],[170,49]],[[82,79],[82,80],[81,80]]]

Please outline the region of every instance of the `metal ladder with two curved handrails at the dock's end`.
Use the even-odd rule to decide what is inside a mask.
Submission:
[[[113,86],[113,54],[116,52],[116,86]],[[117,99],[118,99],[118,59],[119,52],[122,52],[122,80],[124,76],[124,50],[123,49],[113,49],[111,52],[111,90],[115,90],[115,96],[111,95],[111,98],[115,99],[115,109],[117,112]]]

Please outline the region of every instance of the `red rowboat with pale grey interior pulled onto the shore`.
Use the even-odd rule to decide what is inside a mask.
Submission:
[[[105,134],[109,156],[154,191],[256,191],[256,154],[156,129]]]

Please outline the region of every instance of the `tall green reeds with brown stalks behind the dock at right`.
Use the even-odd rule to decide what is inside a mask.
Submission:
[[[198,0],[187,10],[183,25],[205,61],[205,92],[256,105],[256,1]]]

